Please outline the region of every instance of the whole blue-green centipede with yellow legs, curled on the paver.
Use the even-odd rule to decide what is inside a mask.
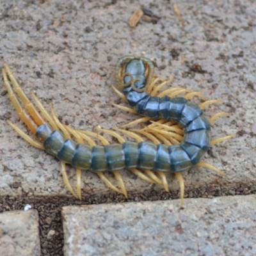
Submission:
[[[129,106],[113,104],[116,108],[140,116],[120,128],[83,131],[61,124],[54,110],[51,114],[44,108],[35,93],[31,93],[35,104],[29,100],[12,70],[4,63],[3,81],[10,101],[19,118],[26,124],[33,136],[22,131],[7,120],[8,124],[33,147],[45,150],[60,160],[63,181],[72,195],[81,200],[82,171],[96,173],[100,179],[116,193],[127,198],[127,191],[120,172],[126,169],[153,184],[161,184],[169,192],[166,173],[174,173],[180,185],[180,204],[184,202],[184,179],[182,172],[192,166],[209,168],[219,175],[225,173],[212,164],[202,161],[210,147],[229,140],[235,134],[211,139],[211,125],[220,116],[228,116],[221,111],[211,118],[204,114],[204,108],[220,104],[221,100],[204,100],[201,92],[191,92],[186,88],[161,89],[172,83],[173,77],[164,80],[154,75],[154,64],[145,57],[124,56],[118,60],[115,70],[116,86],[111,86]],[[13,90],[14,89],[14,90]],[[185,93],[184,97],[180,97]],[[201,104],[191,102],[198,96]],[[131,129],[133,125],[149,122],[141,129]],[[118,143],[110,143],[104,136],[113,136]],[[131,138],[127,141],[124,135]],[[102,145],[97,145],[95,138]],[[66,164],[76,168],[77,192],[68,180]],[[113,173],[118,186],[105,173]]]

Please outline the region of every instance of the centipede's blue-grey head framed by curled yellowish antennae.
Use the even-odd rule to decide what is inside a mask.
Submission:
[[[129,70],[135,70],[136,78]],[[145,57],[136,58],[135,56],[127,55],[120,58],[116,64],[116,83],[121,87],[132,86],[137,92],[145,92],[151,83],[153,74],[154,64]],[[143,82],[141,88],[136,88],[134,83],[141,81],[141,77],[145,77],[145,82]],[[125,78],[127,78],[126,81]]]

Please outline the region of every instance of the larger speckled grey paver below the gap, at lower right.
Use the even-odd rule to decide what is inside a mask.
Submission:
[[[63,207],[64,255],[255,255],[256,196]]]

